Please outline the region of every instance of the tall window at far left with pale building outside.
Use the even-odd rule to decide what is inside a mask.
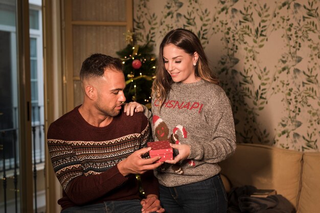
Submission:
[[[3,181],[0,184],[0,192],[5,195],[0,196],[0,209],[5,209],[5,212],[19,212],[20,188],[26,188],[24,185],[19,185],[18,181],[10,181],[25,177],[21,177],[19,174],[20,169],[25,165],[20,165],[19,157],[22,140],[19,140],[21,134],[19,106],[21,105],[18,100],[23,92],[19,87],[19,79],[21,78],[18,78],[17,74],[19,73],[17,70],[17,63],[19,63],[17,60],[17,35],[20,37],[23,35],[21,32],[18,34],[19,32],[16,30],[16,2],[18,5],[21,3],[0,0],[0,181]],[[31,97],[32,163],[34,167],[32,168],[33,173],[30,176],[27,174],[27,176],[33,177],[33,207],[37,209],[36,212],[41,212],[45,208],[44,173],[41,171],[44,167],[45,147],[42,12],[41,0],[29,0],[29,3],[31,88],[28,87],[26,93],[28,93],[28,98]],[[29,69],[25,72],[28,72],[29,75]],[[30,143],[30,140],[28,141]]]

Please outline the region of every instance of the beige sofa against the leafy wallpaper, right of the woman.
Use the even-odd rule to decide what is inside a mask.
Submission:
[[[320,153],[296,152],[238,144],[236,153],[220,163],[226,190],[253,185],[275,189],[298,213],[320,213]]]

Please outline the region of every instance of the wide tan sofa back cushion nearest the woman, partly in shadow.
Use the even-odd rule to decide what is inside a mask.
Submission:
[[[301,183],[301,152],[264,145],[237,144],[233,156],[219,163],[233,187],[274,189],[295,207]]]

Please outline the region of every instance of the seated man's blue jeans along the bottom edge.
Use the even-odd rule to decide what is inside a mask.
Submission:
[[[106,201],[66,208],[61,213],[141,213],[140,200]]]

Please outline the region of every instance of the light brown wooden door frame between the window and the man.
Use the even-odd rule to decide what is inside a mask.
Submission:
[[[61,1],[42,0],[45,133],[48,132],[50,124],[63,114]],[[62,187],[54,173],[47,143],[44,172],[46,212],[60,212],[61,207],[57,200],[62,197]]]

